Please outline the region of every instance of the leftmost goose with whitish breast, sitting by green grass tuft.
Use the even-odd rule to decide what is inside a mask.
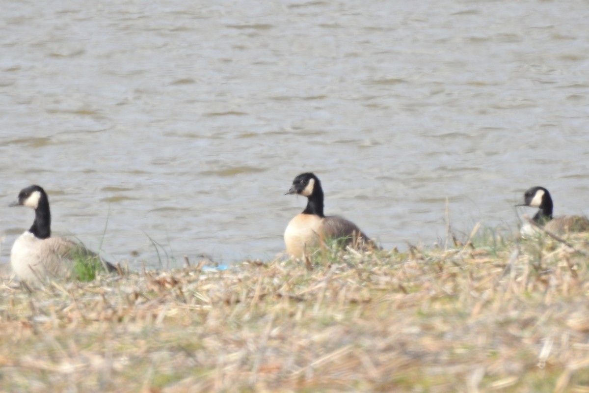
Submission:
[[[35,210],[31,228],[16,238],[10,252],[12,270],[20,280],[34,282],[67,276],[76,258],[84,258],[88,263],[102,262],[98,255],[78,243],[64,237],[51,237],[49,199],[42,187],[34,185],[22,189],[18,200],[8,206],[27,206]],[[108,262],[102,262],[104,266],[109,272],[117,270]]]

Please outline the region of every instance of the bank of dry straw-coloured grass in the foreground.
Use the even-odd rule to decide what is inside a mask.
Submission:
[[[102,275],[33,292],[5,279],[0,384],[589,392],[585,239],[473,242]]]

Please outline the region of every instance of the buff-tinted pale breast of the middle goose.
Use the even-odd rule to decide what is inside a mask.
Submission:
[[[286,251],[293,257],[302,257],[319,245],[322,219],[315,214],[297,214],[284,231]]]

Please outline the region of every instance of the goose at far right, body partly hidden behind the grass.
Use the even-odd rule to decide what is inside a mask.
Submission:
[[[547,189],[536,186],[524,193],[524,203],[517,206],[538,207],[538,212],[532,220],[554,235],[564,235],[570,232],[585,232],[589,230],[589,219],[583,216],[559,216],[552,217],[552,197]],[[531,224],[521,227],[521,235],[537,233]]]

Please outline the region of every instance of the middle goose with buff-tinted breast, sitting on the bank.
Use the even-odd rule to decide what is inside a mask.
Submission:
[[[376,247],[355,223],[339,216],[323,214],[323,189],[315,174],[307,172],[295,177],[285,195],[307,197],[307,207],[290,220],[284,231],[284,243],[290,256],[300,258],[327,239],[345,239],[344,245]]]

